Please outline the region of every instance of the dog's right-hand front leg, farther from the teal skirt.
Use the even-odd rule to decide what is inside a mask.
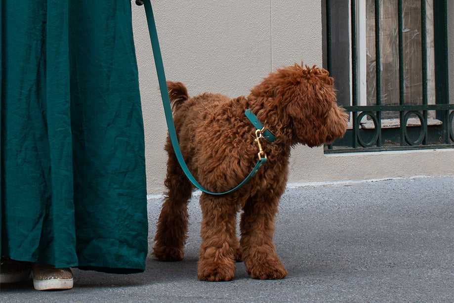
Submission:
[[[246,269],[253,279],[282,279],[288,273],[273,244],[278,202],[279,197],[264,195],[250,198],[244,207],[240,245]]]

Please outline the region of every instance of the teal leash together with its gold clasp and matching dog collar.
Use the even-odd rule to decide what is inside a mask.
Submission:
[[[138,3],[139,4],[139,3]],[[151,40],[151,47],[153,49],[153,56],[155,59],[155,65],[156,65],[156,72],[158,73],[158,82],[159,82],[159,87],[161,89],[161,97],[163,99],[163,105],[164,105],[164,112],[165,112],[165,120],[167,122],[167,128],[168,128],[168,133],[170,136],[170,141],[172,142],[173,145],[173,150],[175,152],[175,155],[178,159],[178,162],[183,169],[183,172],[186,174],[188,179],[200,190],[203,192],[206,192],[211,195],[224,195],[231,193],[243,185],[246,184],[246,182],[249,181],[251,177],[253,177],[257,171],[263,166],[263,164],[266,163],[268,160],[266,157],[265,152],[262,149],[262,146],[260,144],[260,139],[261,138],[266,138],[268,141],[273,142],[276,137],[269,131],[265,130],[263,125],[260,123],[260,121],[257,119],[257,117],[252,113],[250,109],[248,109],[245,114],[248,117],[249,121],[255,126],[256,131],[255,131],[255,142],[258,145],[259,152],[258,152],[258,161],[255,164],[254,168],[252,171],[248,174],[248,176],[236,187],[222,192],[222,193],[214,193],[206,190],[191,174],[189,171],[186,163],[184,162],[183,155],[181,154],[180,147],[178,145],[178,139],[176,136],[176,130],[175,130],[175,125],[173,123],[173,117],[172,117],[172,108],[170,105],[170,98],[168,96],[168,89],[167,89],[167,83],[165,80],[165,73],[164,73],[164,64],[163,64],[163,58],[161,55],[161,49],[159,47],[159,41],[158,41],[158,33],[156,31],[156,24],[155,24],[155,18],[153,15],[153,9],[151,7],[150,0],[143,0],[143,4],[145,6],[145,14],[147,16],[147,23],[148,23],[148,30],[150,32],[150,40]]]

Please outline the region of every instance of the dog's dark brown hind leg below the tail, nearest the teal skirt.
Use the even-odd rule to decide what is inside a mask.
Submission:
[[[158,220],[153,255],[161,261],[178,261],[184,256],[192,185],[173,153],[169,153],[167,160],[165,186],[168,190]]]

